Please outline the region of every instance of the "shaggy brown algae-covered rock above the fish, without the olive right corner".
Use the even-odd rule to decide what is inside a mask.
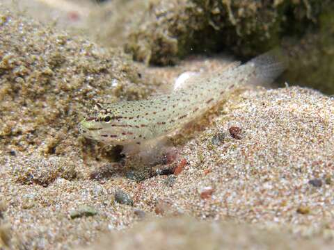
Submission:
[[[317,22],[326,3],[329,1],[112,1],[100,13],[106,24],[101,24],[99,38],[106,44],[124,42],[136,60],[159,65],[175,63],[190,53],[223,49],[253,56],[277,45],[283,35],[303,34]],[[113,40],[111,34],[116,31],[118,37],[127,39]]]

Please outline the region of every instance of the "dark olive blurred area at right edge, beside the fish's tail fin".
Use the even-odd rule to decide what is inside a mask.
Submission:
[[[333,3],[332,3],[333,5]],[[334,7],[334,6],[333,6]],[[308,86],[326,94],[334,94],[334,11],[319,15],[319,30],[306,34],[301,42],[290,44],[288,83]]]

